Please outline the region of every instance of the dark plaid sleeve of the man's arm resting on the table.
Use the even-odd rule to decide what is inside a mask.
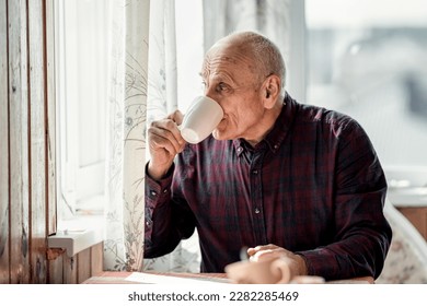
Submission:
[[[377,279],[392,237],[383,214],[386,180],[362,128],[354,122],[346,129],[336,153],[334,243],[299,254],[312,275]]]

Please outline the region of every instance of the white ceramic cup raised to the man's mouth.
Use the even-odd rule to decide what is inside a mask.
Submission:
[[[222,120],[222,107],[208,96],[198,96],[189,105],[180,126],[181,136],[189,143],[206,139]]]

